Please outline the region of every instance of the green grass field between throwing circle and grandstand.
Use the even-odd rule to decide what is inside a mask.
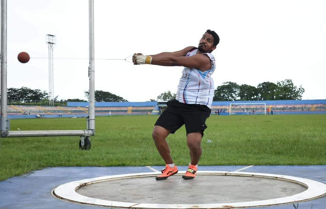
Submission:
[[[152,140],[158,116],[96,117],[91,150],[79,137],[1,138],[0,180],[55,166],[164,165]],[[11,130],[77,130],[85,118],[12,119]],[[326,114],[211,115],[200,165],[326,164]],[[168,137],[177,165],[188,165],[185,128]],[[212,142],[207,143],[207,139]]]

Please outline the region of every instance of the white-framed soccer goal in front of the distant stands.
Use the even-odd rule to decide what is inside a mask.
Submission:
[[[230,115],[266,115],[266,103],[231,103],[229,112]]]

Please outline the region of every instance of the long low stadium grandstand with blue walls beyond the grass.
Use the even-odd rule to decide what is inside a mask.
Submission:
[[[160,114],[167,101],[155,102],[96,102],[95,114]],[[259,102],[260,104],[250,104]],[[230,105],[235,104],[236,105]],[[67,102],[67,106],[33,106],[8,105],[7,114],[10,118],[40,117],[87,117],[88,102]],[[266,101],[215,101],[212,113],[218,110],[220,115],[231,114],[264,114],[269,108],[273,114],[320,114],[326,113],[326,99],[320,100],[266,100]],[[267,114],[267,112],[266,112]]]

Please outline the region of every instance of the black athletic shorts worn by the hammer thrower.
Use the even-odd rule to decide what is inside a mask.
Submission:
[[[157,119],[155,126],[161,126],[173,134],[185,124],[187,135],[189,133],[201,132],[207,128],[205,121],[211,115],[211,109],[206,105],[184,104],[176,99],[167,102],[167,109]]]

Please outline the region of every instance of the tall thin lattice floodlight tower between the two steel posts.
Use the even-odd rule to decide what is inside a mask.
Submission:
[[[47,34],[46,44],[49,48],[49,105],[54,105],[53,93],[53,45],[55,44],[55,36]]]

